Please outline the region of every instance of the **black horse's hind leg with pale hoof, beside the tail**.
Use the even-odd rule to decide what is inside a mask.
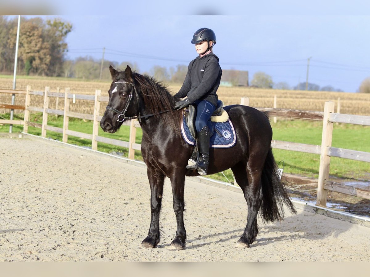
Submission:
[[[247,225],[243,235],[238,240],[238,246],[250,247],[257,235],[257,215],[262,203],[261,175],[262,169],[250,170],[244,164],[232,168],[236,182],[242,188],[248,205]]]

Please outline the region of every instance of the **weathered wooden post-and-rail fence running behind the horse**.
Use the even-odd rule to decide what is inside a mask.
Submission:
[[[131,120],[131,122],[124,122],[125,125],[130,126],[129,141],[116,140],[112,138],[106,138],[98,136],[99,123],[102,118],[100,116],[100,106],[101,102],[108,102],[108,96],[101,96],[100,90],[95,90],[94,95],[78,95],[70,93],[70,89],[66,88],[65,93],[50,92],[49,87],[45,88],[45,91],[32,91],[30,86],[27,86],[26,91],[22,90],[2,90],[0,93],[18,93],[26,94],[25,106],[16,105],[4,105],[6,109],[20,109],[24,110],[24,120],[0,120],[3,124],[20,124],[23,125],[24,133],[28,132],[28,126],[33,126],[41,128],[41,136],[46,137],[47,131],[54,131],[63,134],[63,142],[67,143],[68,136],[75,136],[80,138],[86,138],[92,141],[91,148],[97,150],[98,142],[112,144],[115,146],[125,147],[129,149],[128,157],[134,159],[134,151],[140,150],[141,145],[135,143],[136,138],[136,128],[140,125],[137,120]],[[44,96],[43,107],[30,106],[31,95]],[[49,99],[51,97],[64,98],[64,110],[50,109]],[[90,100],[94,101],[94,113],[84,114],[70,112],[70,101],[71,99],[75,101],[76,99]],[[56,102],[58,103],[58,102]],[[240,100],[241,105],[249,105],[249,98],[242,98]],[[347,195],[358,196],[365,199],[370,199],[370,191],[365,189],[359,189],[349,185],[344,185],[336,182],[328,181],[329,178],[329,166],[330,157],[340,157],[357,161],[370,162],[370,153],[355,151],[349,149],[342,149],[332,147],[332,131],[333,123],[348,123],[348,124],[359,124],[363,126],[370,126],[370,116],[358,116],[350,114],[340,114],[334,113],[334,102],[325,102],[324,112],[309,112],[301,110],[287,110],[287,109],[274,109],[274,108],[258,108],[261,111],[266,111],[270,116],[273,117],[286,117],[291,119],[303,119],[303,120],[319,120],[323,121],[323,132],[322,132],[322,143],[319,145],[303,144],[303,143],[293,143],[289,141],[277,141],[273,140],[271,145],[273,148],[299,151],[305,153],[313,153],[320,155],[320,168],[319,168],[319,179],[317,181],[317,200],[316,204],[321,206],[326,206],[327,191],[336,191]],[[37,124],[30,122],[30,112],[42,112],[43,122],[42,124]],[[63,128],[58,128],[50,126],[47,124],[48,115],[55,114],[63,116]],[[82,133],[79,131],[73,131],[68,129],[69,118],[74,117],[78,119],[92,120],[93,130],[92,134]],[[307,179],[300,178],[299,179]],[[290,178],[294,180],[294,178]]]

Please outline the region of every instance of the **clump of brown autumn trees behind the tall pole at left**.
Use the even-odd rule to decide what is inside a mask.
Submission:
[[[11,72],[17,40],[18,18],[0,16],[0,71]],[[60,76],[63,72],[65,37],[72,25],[59,19],[21,17],[18,70],[28,74]]]

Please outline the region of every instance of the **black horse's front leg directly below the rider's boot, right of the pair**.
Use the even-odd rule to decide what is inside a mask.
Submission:
[[[172,185],[172,196],[174,198],[174,212],[176,215],[176,237],[171,242],[171,246],[177,250],[185,248],[186,230],[184,226],[184,187],[185,187],[185,168],[175,170],[170,176]]]

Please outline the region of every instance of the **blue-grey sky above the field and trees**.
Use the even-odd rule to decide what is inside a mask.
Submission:
[[[67,0],[55,4],[50,12],[54,15],[44,18],[59,17],[73,24],[66,40],[71,59],[86,55],[101,59],[105,47],[105,59],[135,62],[139,72],[149,72],[154,65],[188,65],[196,57],[190,43],[194,31],[208,27],[216,33],[214,52],[223,69],[247,70],[250,79],[263,71],[275,83],[295,86],[306,81],[307,58],[312,57],[309,82],[356,92],[370,76],[368,2],[281,0],[233,5],[231,0],[224,7],[217,1],[203,7],[174,1]],[[238,13],[242,15],[192,15]]]

